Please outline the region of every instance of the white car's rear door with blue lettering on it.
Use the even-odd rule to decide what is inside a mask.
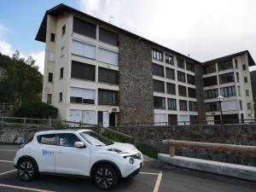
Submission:
[[[38,148],[33,156],[37,158],[39,172],[55,172],[55,144],[55,134],[38,136]]]

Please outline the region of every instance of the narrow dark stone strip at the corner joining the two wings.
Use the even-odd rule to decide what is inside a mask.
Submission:
[[[202,80],[203,67],[195,64],[195,89],[197,99],[198,123],[206,122],[206,105],[204,96],[204,84]]]

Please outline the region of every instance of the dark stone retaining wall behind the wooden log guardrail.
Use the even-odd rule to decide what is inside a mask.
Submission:
[[[188,126],[143,126],[113,127],[137,141],[147,143],[167,153],[163,139],[206,143],[229,143],[256,146],[256,125],[188,125]],[[230,152],[207,151],[205,149],[177,148],[176,154],[204,160],[216,160],[247,166],[256,166],[256,155],[231,154]]]

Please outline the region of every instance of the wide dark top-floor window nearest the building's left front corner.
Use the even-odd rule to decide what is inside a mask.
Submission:
[[[78,32],[90,38],[96,38],[96,25],[74,17],[73,32]]]

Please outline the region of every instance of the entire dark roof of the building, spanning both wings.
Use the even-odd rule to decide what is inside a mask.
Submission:
[[[46,38],[46,27],[47,27],[47,15],[64,15],[65,13],[70,13],[70,14],[77,14],[77,15],[82,15],[82,16],[85,16],[87,18],[90,18],[91,20],[96,20],[96,22],[99,22],[99,23],[102,23],[104,25],[108,25],[108,26],[111,26],[113,27],[114,29],[118,30],[119,32],[125,32],[133,37],[137,37],[138,39],[143,39],[145,41],[147,41],[148,43],[152,44],[152,45],[156,45],[162,49],[167,49],[169,51],[171,51],[172,53],[176,54],[176,55],[180,55],[182,56],[183,58],[187,59],[187,60],[190,60],[190,61],[194,61],[195,63],[197,64],[200,64],[200,65],[208,65],[208,64],[212,64],[212,62],[216,62],[216,61],[224,61],[224,60],[227,60],[227,59],[230,59],[231,57],[234,57],[236,55],[241,55],[241,54],[244,54],[244,53],[247,53],[248,55],[248,61],[249,61],[249,66],[254,66],[255,65],[255,62],[253,61],[253,57],[252,55],[250,55],[249,51],[248,50],[244,50],[244,51],[241,51],[241,52],[238,52],[236,54],[232,54],[232,55],[226,55],[226,56],[223,56],[223,57],[219,57],[217,59],[214,59],[214,60],[211,60],[211,61],[205,61],[205,62],[201,62],[201,61],[196,61],[195,59],[187,56],[187,55],[183,55],[181,53],[178,53],[177,51],[173,50],[173,49],[169,49],[169,48],[166,48],[165,46],[161,45],[161,44],[157,44],[151,40],[148,40],[147,38],[143,38],[135,33],[132,33],[132,32],[129,32],[129,31],[126,31],[125,29],[122,29],[120,28],[119,26],[113,26],[112,24],[104,21],[104,20],[100,20],[94,16],[91,16],[91,15],[88,15],[88,14],[85,14],[84,12],[81,12],[79,11],[78,9],[73,9],[63,3],[55,6],[54,8],[52,9],[49,9],[45,12],[44,14],[44,19],[42,20],[41,22],[41,25],[38,29],[38,33],[37,33],[37,36],[35,38],[35,40],[38,40],[38,41],[41,41],[41,42],[44,42],[45,43],[45,38]]]

